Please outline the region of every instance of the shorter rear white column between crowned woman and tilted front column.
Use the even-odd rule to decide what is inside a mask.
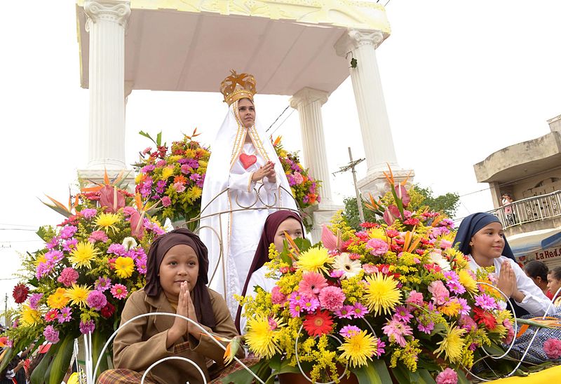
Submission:
[[[330,173],[327,168],[327,151],[323,135],[321,106],[327,102],[327,92],[302,88],[290,98],[290,107],[297,109],[300,117],[304,164],[314,179],[323,181],[321,203],[332,205]]]

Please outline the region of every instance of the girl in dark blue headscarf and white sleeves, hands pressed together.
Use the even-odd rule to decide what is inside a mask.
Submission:
[[[515,262],[496,216],[484,212],[470,214],[461,221],[456,243],[468,256],[472,270],[494,266],[496,287],[511,299],[518,317],[541,316],[550,308],[551,301]]]

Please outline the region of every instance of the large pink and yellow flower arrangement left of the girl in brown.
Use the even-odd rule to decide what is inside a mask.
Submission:
[[[24,255],[24,278],[13,290],[19,306],[4,336],[12,352],[53,343],[34,374],[41,376],[37,382],[47,375],[49,383],[60,383],[74,338],[92,333],[94,359],[100,355],[126,299],[144,286],[149,244],[163,230],[145,217],[140,196],[109,185],[107,174],[104,185],[83,188],[69,207],[51,200],[67,219],[41,227],[45,247]]]

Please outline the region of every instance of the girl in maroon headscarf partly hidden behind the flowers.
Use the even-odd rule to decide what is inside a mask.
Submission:
[[[257,286],[262,287],[267,292],[270,292],[274,287],[276,280],[265,277],[267,270],[264,263],[269,261],[271,244],[275,245],[278,252],[283,251],[285,233],[288,233],[292,238],[304,237],[304,226],[299,215],[289,210],[278,210],[269,214],[263,226],[261,240],[259,240],[255,256],[253,256],[241,296],[255,295],[254,289]],[[236,314],[236,328],[238,331],[243,331],[245,328],[245,316],[242,315],[242,308],[239,306]]]

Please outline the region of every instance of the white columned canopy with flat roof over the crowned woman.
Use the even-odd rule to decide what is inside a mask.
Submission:
[[[230,69],[254,74],[259,94],[292,96],[304,163],[323,180],[316,222],[325,222],[335,209],[321,106],[349,74],[367,161],[367,174],[358,181],[361,191],[377,195],[387,189],[381,173],[386,163],[396,179],[410,173],[398,165],[381,89],[376,48],[390,27],[379,4],[77,0],[76,16],[81,85],[90,89],[83,176],[126,168],[125,108],[132,90],[217,92]]]

